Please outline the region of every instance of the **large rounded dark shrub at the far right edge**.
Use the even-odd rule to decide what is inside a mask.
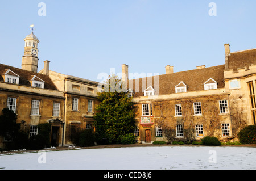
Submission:
[[[238,133],[241,144],[256,144],[256,125],[249,125]]]

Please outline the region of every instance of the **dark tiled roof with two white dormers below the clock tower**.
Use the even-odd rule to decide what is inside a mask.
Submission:
[[[40,74],[40,73],[34,73],[32,71],[23,70],[19,68],[15,68],[13,66],[0,64],[0,81],[5,81],[3,79],[3,75],[6,73],[7,70],[13,71],[15,74],[19,75],[19,85],[24,86],[31,86],[31,79],[36,75],[36,77],[42,79],[44,81],[44,89],[51,89],[51,90],[57,90],[56,86],[52,82],[51,78],[49,78],[48,75]]]

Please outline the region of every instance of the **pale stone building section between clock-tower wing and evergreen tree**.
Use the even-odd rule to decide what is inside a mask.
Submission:
[[[44,71],[46,70],[43,69],[40,72]],[[52,70],[47,70],[47,72],[57,89],[64,94],[65,145],[72,145],[72,136],[76,132],[93,128],[95,108],[100,103],[97,99],[99,83]]]

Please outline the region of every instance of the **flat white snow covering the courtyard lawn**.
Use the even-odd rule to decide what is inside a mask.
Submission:
[[[165,170],[256,169],[256,148],[233,146],[153,146],[42,150],[0,154],[0,169]],[[43,162],[45,161],[45,162]]]

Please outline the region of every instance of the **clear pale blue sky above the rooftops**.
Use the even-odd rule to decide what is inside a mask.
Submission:
[[[231,52],[256,48],[255,10],[255,0],[1,1],[0,63],[21,68],[34,24],[38,71],[49,60],[50,70],[102,81],[98,74],[119,73],[121,64],[146,74],[222,65],[224,44]]]

